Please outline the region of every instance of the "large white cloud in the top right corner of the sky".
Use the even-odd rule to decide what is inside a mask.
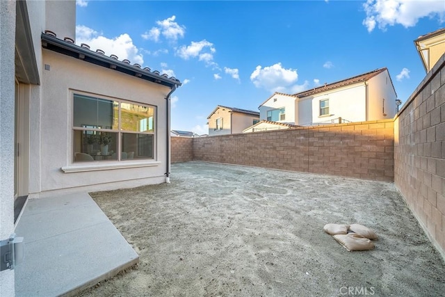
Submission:
[[[363,7],[366,19],[362,24],[368,32],[373,31],[376,25],[383,31],[394,24],[408,28],[415,26],[422,17],[437,17],[439,23],[445,21],[443,0],[367,0]]]

